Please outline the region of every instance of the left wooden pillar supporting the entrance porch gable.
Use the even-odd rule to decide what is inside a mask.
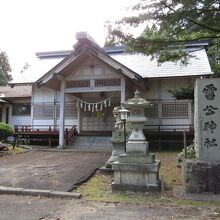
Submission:
[[[60,84],[60,120],[59,120],[59,146],[58,148],[64,148],[64,106],[65,106],[65,86],[66,82],[61,78]]]

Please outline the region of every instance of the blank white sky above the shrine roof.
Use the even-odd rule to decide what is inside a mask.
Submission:
[[[134,0],[0,0],[0,50],[9,57],[12,77],[36,52],[69,50],[75,33],[86,31],[104,45],[107,20],[126,15]]]

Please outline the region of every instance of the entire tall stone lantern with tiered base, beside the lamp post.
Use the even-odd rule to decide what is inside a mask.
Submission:
[[[119,160],[112,164],[114,170],[113,191],[144,192],[160,189],[159,167],[160,161],[149,153],[149,144],[143,134],[144,108],[150,103],[140,98],[139,91],[132,99],[122,103],[130,110],[131,135],[126,144],[126,153],[119,156]]]

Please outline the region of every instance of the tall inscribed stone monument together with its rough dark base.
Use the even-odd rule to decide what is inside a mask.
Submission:
[[[220,192],[220,79],[198,79],[195,87],[195,160],[185,160],[185,192]]]

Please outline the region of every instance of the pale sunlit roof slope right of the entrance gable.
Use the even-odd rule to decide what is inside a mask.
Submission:
[[[112,58],[127,66],[143,78],[196,76],[211,74],[211,68],[205,49],[191,52],[195,58],[190,58],[189,64],[183,66],[180,62],[165,62],[158,65],[157,60],[143,54],[121,53],[111,55]]]

